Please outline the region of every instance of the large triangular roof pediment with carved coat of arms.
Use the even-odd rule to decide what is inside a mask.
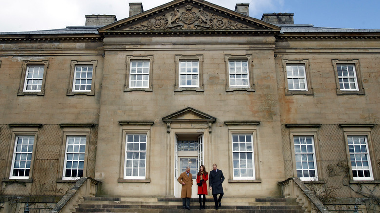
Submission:
[[[174,0],[99,28],[99,33],[279,32],[280,27],[203,0]]]

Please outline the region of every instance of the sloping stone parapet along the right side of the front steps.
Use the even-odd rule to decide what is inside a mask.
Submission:
[[[307,188],[300,178],[291,177],[279,182],[282,195],[285,198],[296,198],[305,213],[329,213],[323,203]]]

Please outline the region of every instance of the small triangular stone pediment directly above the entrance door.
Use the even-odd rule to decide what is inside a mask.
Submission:
[[[175,112],[171,115],[165,116],[162,118],[164,122],[173,122],[173,121],[187,121],[187,122],[208,122],[213,123],[216,121],[215,117],[212,117],[206,113],[188,107],[186,109]]]

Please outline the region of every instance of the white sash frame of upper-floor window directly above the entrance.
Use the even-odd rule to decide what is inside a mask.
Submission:
[[[194,65],[196,63],[196,65]],[[179,74],[178,74],[178,82],[180,88],[196,88],[199,87],[199,60],[180,60],[179,61]],[[188,70],[190,69],[190,73]],[[196,69],[196,72],[193,72],[194,69]],[[185,79],[182,79],[181,77],[185,76]],[[196,79],[194,80],[194,76],[196,76]],[[188,78],[190,77],[190,78]],[[187,81],[191,81],[191,85],[187,84]],[[181,82],[185,81],[185,84],[182,84]],[[194,84],[195,82],[195,84]]]

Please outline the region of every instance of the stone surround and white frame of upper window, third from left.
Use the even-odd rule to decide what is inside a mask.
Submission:
[[[148,62],[148,76],[147,86],[141,86],[136,87],[132,86],[131,82],[133,75],[145,75],[145,74],[133,74],[132,73],[132,63],[133,62]],[[154,62],[154,56],[153,55],[127,55],[126,56],[126,63],[127,63],[127,73],[126,73],[126,79],[125,79],[125,85],[124,85],[124,92],[132,92],[132,91],[145,91],[145,92],[152,92],[153,91],[153,85],[152,85],[152,76],[153,76],[153,62]]]

